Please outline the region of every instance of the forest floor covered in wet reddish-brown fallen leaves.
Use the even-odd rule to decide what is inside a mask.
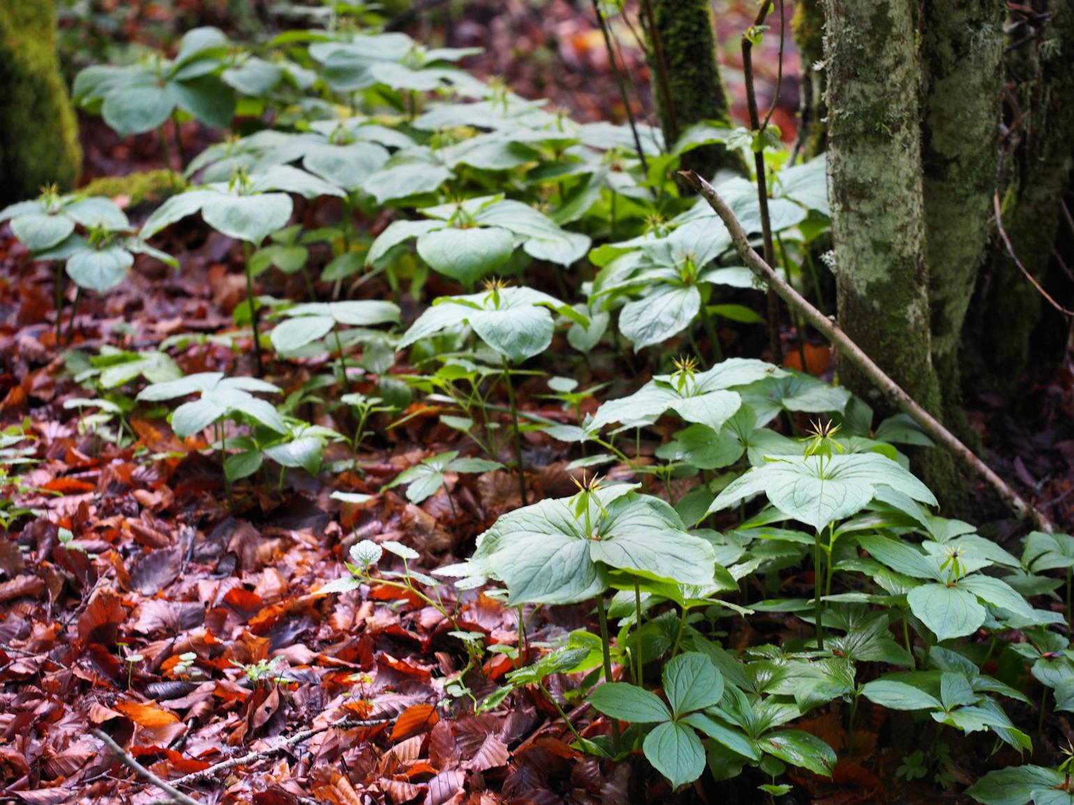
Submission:
[[[721,18],[728,54],[750,21],[749,11],[748,3],[734,4]],[[521,0],[489,3],[458,23],[452,38],[452,44],[488,46],[475,65],[504,75],[522,94],[569,105],[583,119],[621,115],[599,32],[569,3],[552,2],[539,13]],[[629,42],[628,33],[622,41]],[[766,47],[777,44],[778,36],[766,38]],[[785,70],[796,75],[789,49]],[[648,98],[640,50],[624,45],[624,53]],[[741,112],[732,55],[725,70]],[[761,93],[770,93],[774,76],[759,78]],[[788,138],[795,92],[785,77],[777,122]],[[638,112],[652,119],[645,103]],[[87,178],[162,164],[154,136],[120,142],[97,120],[84,120],[83,134]],[[204,145],[205,134],[194,126],[183,136],[190,153]],[[137,219],[137,209],[128,213]],[[337,210],[307,206],[300,215],[314,225]],[[340,574],[357,540],[406,541],[421,555],[415,565],[427,570],[468,555],[477,533],[520,506],[514,479],[503,471],[449,478],[453,507],[444,494],[421,507],[394,492],[362,506],[331,498],[336,489],[376,493],[418,458],[452,449],[459,434],[438,424],[433,408],[416,405],[409,411],[415,415],[390,430],[387,419],[374,421],[373,447],[359,456],[362,477],[345,473],[326,485],[288,471],[276,487],[241,482],[230,496],[206,445],[180,441],[162,421],[130,420],[137,441],[126,449],[79,428],[79,409],[64,404],[86,393],[67,372],[64,351],[96,352],[105,345],[151,350],[178,333],[232,328],[232,310],[245,297],[241,250],[206,232],[197,224],[174,230],[166,248],[178,258],[180,273],[135,270],[106,297],[83,298],[69,336],[57,342],[53,269],[32,264],[0,230],[0,427],[29,421],[38,463],[23,472],[26,488],[16,504],[45,513],[23,521],[17,539],[0,540],[0,799],[34,805],[159,801],[160,790],[117,771],[89,737],[90,730],[107,724],[119,743],[136,731],[134,759],[172,785],[258,753],[241,771],[214,769],[211,786],[197,776],[180,784],[205,803],[358,805],[367,796],[429,805],[673,801],[666,782],[650,775],[653,787],[645,790],[645,775],[632,774],[634,766],[642,769],[640,759],[601,764],[570,748],[569,733],[540,696],[523,697],[510,712],[442,717],[436,705],[444,691],[434,677],[460,671],[465,661],[448,634],[452,629],[519,643],[516,612],[500,602],[481,595],[450,624],[425,602],[384,586],[373,586],[365,599],[311,592]],[[301,278],[292,280],[287,288],[282,275],[264,275],[263,291],[301,295]],[[407,304],[401,301],[405,314]],[[212,341],[173,354],[186,372],[253,374],[248,352]],[[272,378],[288,393],[317,369],[311,363]],[[621,370],[596,366],[593,380]],[[355,380],[360,391],[361,378]],[[1068,363],[1024,390],[1017,415],[988,395],[967,401],[991,465],[1066,529],[1074,528],[1072,389]],[[543,392],[538,381],[523,384],[521,407],[563,419],[565,412],[542,399]],[[343,433],[351,426],[328,414],[318,424]],[[325,463],[349,457],[347,445],[337,455],[332,450]],[[529,435],[525,450],[536,495],[576,491],[567,457],[547,437]],[[1001,522],[998,536],[1013,527]],[[61,528],[73,533],[77,550],[60,541]],[[803,590],[810,584],[807,577],[790,582]],[[537,645],[585,626],[595,628],[581,609],[553,606],[534,613],[525,633]],[[756,643],[754,629],[769,632],[770,642],[801,633],[789,617],[739,628],[728,635],[730,645]],[[140,659],[124,661],[115,650],[119,644]],[[177,664],[185,653],[197,655],[200,672]],[[256,667],[267,657],[279,659],[260,679],[237,667]],[[512,668],[506,655],[493,655],[466,677],[474,696],[491,691]],[[560,692],[557,678],[550,678],[553,693]],[[584,709],[569,714],[582,733],[603,731]],[[1059,720],[1060,730],[1074,736],[1065,718]],[[845,750],[847,736],[837,717],[822,716],[803,728]],[[854,760],[841,761],[833,780],[793,775],[797,787],[786,802],[940,801],[934,789],[902,790],[890,775],[892,759],[872,752],[885,728],[877,716],[860,731]],[[308,737],[301,749],[300,733]],[[708,793],[728,804],[755,802],[756,782]]]

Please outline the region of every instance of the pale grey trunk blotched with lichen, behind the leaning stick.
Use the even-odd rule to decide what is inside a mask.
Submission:
[[[840,325],[911,396],[941,413],[929,336],[914,0],[825,0],[828,174]],[[840,382],[888,408],[845,361]],[[945,503],[963,496],[944,451],[916,467]]]

